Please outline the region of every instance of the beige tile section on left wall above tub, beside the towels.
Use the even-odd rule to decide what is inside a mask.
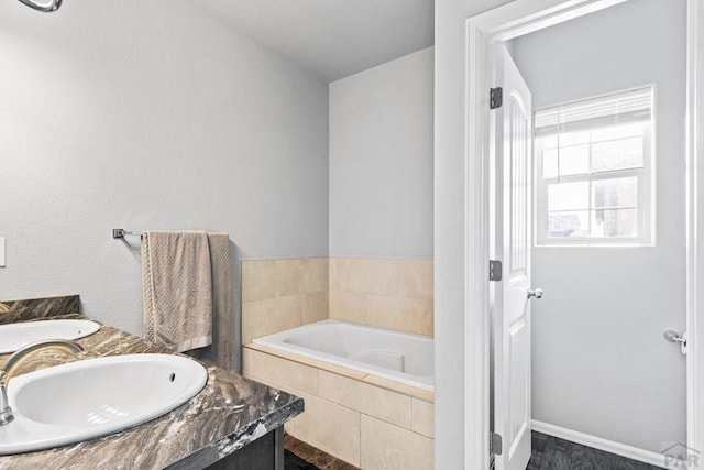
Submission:
[[[242,262],[242,343],[328,318],[328,259]]]

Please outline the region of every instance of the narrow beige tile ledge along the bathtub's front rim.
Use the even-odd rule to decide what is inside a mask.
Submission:
[[[394,382],[393,380],[382,379],[375,375],[370,375],[364,372],[359,372],[352,369],[341,368],[339,365],[330,364],[328,362],[309,359],[304,356],[294,354],[287,351],[280,351],[275,348],[271,348],[255,342],[244,345],[244,349],[251,349],[254,351],[264,352],[266,354],[276,356],[278,358],[288,359],[289,361],[298,362],[305,365],[321,369],[327,372],[332,372],[338,375],[343,375],[350,379],[356,379],[371,385],[376,385],[382,389],[387,389],[394,392],[403,393],[404,395],[413,396],[425,402],[433,403],[435,393],[427,390],[417,389],[415,386],[405,385],[403,383]],[[246,367],[246,363],[245,363]]]

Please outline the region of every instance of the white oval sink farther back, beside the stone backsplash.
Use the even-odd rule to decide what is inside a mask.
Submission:
[[[45,339],[79,339],[100,329],[91,320],[43,320],[0,325],[0,354]]]

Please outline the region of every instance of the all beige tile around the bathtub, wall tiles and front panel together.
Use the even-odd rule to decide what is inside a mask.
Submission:
[[[252,343],[328,317],[432,335],[432,261],[242,262],[244,375],[306,401],[286,430],[363,470],[432,469],[432,392]]]

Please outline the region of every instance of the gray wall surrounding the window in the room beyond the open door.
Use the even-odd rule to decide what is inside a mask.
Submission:
[[[637,0],[518,37],[539,109],[656,85],[656,247],[534,249],[534,418],[660,452],[685,439],[685,0]]]

